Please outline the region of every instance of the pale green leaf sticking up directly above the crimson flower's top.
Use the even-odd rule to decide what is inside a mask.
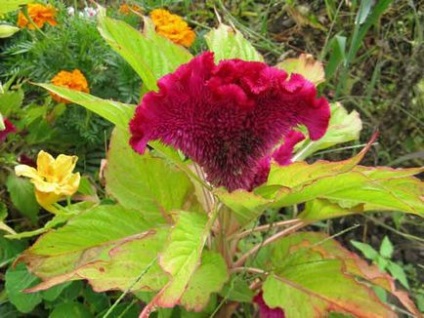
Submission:
[[[224,59],[242,59],[245,61],[263,61],[263,57],[247,41],[240,31],[225,24],[212,29],[205,35],[209,49],[214,52],[215,61]]]

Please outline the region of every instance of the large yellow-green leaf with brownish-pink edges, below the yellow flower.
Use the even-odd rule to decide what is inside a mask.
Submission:
[[[167,232],[152,229],[142,207],[98,206],[41,236],[20,261],[44,281],[31,291],[76,279],[89,280],[98,291],[159,289],[166,275],[157,255]]]

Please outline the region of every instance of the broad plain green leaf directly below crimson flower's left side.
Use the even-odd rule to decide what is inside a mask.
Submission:
[[[192,183],[181,171],[148,153],[141,156],[128,144],[128,133],[115,129],[105,171],[106,190],[120,204],[139,209],[153,223],[170,222],[170,211],[187,208]]]

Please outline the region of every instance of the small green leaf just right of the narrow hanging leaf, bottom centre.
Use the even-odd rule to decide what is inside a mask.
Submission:
[[[221,254],[204,251],[180,304],[187,310],[201,311],[208,304],[210,295],[219,292],[227,279],[227,264]]]

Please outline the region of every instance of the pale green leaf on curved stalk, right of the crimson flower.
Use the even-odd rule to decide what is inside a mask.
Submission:
[[[359,114],[352,111],[350,114],[340,103],[331,104],[331,119],[325,135],[311,141],[309,138],[299,144],[299,151],[294,160],[304,160],[311,154],[334,145],[357,140],[362,129]]]

